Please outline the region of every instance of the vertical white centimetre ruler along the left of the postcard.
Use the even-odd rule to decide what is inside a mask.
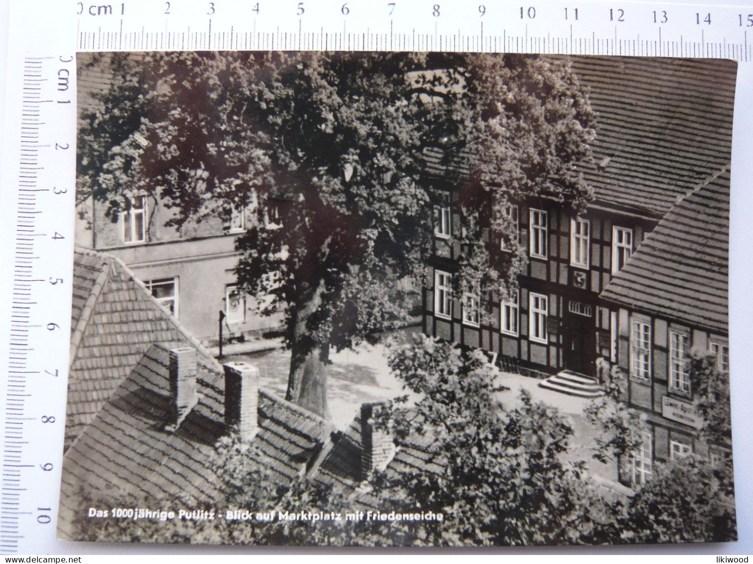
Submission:
[[[40,538],[53,538],[66,413],[75,50],[71,18],[58,8],[40,26],[38,8],[11,5],[0,194],[0,553],[35,553]]]

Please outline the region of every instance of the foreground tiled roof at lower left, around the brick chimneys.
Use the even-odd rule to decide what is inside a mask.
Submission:
[[[227,434],[224,374],[199,366],[199,401],[171,433],[169,350],[183,343],[151,346],[66,452],[62,468],[59,532],[75,535],[72,523],[84,501],[218,502],[213,470],[215,444]],[[259,392],[258,433],[262,463],[280,485],[306,471],[333,431],[331,423],[269,392]]]

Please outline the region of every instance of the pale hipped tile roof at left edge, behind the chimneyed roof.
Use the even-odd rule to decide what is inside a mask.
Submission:
[[[119,259],[76,249],[68,377],[66,448],[155,341],[198,349],[200,362],[219,370],[212,355],[166,311]]]

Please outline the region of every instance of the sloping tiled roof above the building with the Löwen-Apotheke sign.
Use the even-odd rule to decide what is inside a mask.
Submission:
[[[729,228],[727,167],[669,210],[602,297],[727,334]]]

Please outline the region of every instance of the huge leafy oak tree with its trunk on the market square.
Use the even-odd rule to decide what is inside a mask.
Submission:
[[[593,114],[566,61],[415,53],[114,54],[111,88],[80,123],[79,197],[145,191],[180,227],[251,206],[242,290],[285,312],[288,399],[326,413],[326,364],[407,316],[398,280],[423,280],[436,195],[422,151],[468,161],[458,285],[508,293],[523,264],[511,202],[592,197],[578,173]],[[282,228],[279,227],[282,224]],[[491,227],[510,243],[489,255]],[[498,240],[498,239],[495,239]]]

